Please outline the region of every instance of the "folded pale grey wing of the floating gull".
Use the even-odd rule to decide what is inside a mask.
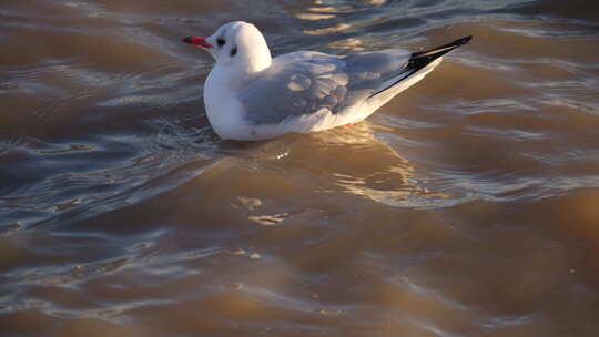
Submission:
[[[277,124],[326,109],[345,108],[382,90],[406,67],[409,54],[400,50],[335,57],[295,52],[273,60],[273,65],[238,99],[246,119],[255,124]]]

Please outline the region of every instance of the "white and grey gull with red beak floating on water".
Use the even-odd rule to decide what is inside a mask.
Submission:
[[[216,61],[204,84],[204,105],[214,131],[224,140],[257,141],[359,122],[471,38],[414,53],[296,51],[273,58],[255,25],[233,21],[209,38],[183,41]]]

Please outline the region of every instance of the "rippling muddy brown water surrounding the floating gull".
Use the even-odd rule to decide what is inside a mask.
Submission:
[[[3,1],[0,335],[598,336],[590,1]],[[354,127],[223,142],[181,43],[473,34]]]

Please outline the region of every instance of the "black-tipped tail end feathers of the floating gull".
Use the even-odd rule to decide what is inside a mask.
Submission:
[[[399,74],[397,74],[397,80],[390,83],[389,85],[383,88],[382,90],[373,93],[368,99],[376,96],[377,94],[383,93],[386,90],[395,86],[397,83],[417,73],[419,70],[433,63],[433,61],[437,60],[438,58],[445,55],[446,53],[453,51],[454,49],[460,45],[467,44],[468,42],[470,42],[471,39],[473,39],[471,35],[464,37],[461,39],[458,39],[454,42],[450,42],[444,45],[439,45],[429,50],[412,53],[407,65],[404,68],[404,70]]]

